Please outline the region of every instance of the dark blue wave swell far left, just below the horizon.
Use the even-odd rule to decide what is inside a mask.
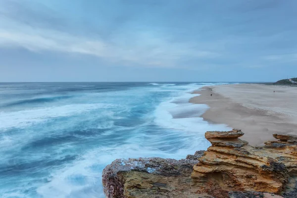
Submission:
[[[15,105],[23,105],[23,104],[38,104],[38,103],[46,103],[46,102],[55,102],[61,99],[71,99],[74,96],[55,96],[55,97],[44,97],[44,98],[36,98],[36,99],[22,99],[15,102],[10,102],[5,104],[5,107],[15,106]]]

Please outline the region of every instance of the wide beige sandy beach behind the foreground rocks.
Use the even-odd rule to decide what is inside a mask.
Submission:
[[[194,93],[201,95],[190,102],[210,107],[202,115],[204,120],[242,129],[245,135],[241,139],[250,145],[275,140],[273,133],[297,135],[297,87],[218,85]]]

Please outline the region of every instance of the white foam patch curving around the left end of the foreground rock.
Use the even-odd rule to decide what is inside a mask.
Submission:
[[[101,185],[103,167],[116,158],[148,157],[155,153],[156,150],[137,144],[95,149],[73,164],[51,173],[50,182],[39,187],[37,193],[45,198],[104,198]]]

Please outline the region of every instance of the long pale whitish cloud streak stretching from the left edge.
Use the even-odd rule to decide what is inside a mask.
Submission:
[[[211,58],[217,53],[196,50],[191,44],[170,43],[153,33],[141,32],[134,42],[110,43],[103,40],[75,36],[64,32],[22,27],[22,32],[0,30],[0,47],[22,47],[34,52],[45,50],[80,53],[113,62],[130,61],[140,65],[173,67],[184,56]]]

